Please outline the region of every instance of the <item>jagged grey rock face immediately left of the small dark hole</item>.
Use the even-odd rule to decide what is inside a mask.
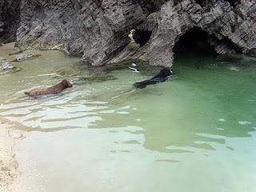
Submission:
[[[80,1],[83,31],[83,59],[101,65],[129,43],[134,26],[146,19],[147,12],[131,0]]]

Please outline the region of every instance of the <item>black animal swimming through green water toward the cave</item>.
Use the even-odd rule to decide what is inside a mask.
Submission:
[[[167,67],[164,67],[153,78],[150,78],[150,79],[142,81],[142,82],[135,82],[134,86],[138,89],[143,89],[148,85],[154,85],[154,84],[157,84],[160,82],[165,82],[168,78],[170,78],[170,75],[172,75],[172,74],[173,74],[173,72],[171,70],[169,70]]]

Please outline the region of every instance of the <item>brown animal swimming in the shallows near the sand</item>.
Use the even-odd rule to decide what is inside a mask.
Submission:
[[[34,90],[29,90],[29,91],[26,91],[25,94],[28,94],[31,97],[38,97],[40,95],[45,95],[45,94],[59,94],[60,92],[62,92],[62,90],[66,90],[67,88],[72,86],[73,85],[70,81],[64,79],[62,80],[62,82],[59,82],[55,86],[42,87]]]

